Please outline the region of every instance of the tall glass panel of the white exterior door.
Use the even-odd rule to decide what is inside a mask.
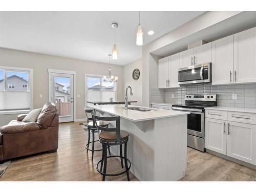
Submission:
[[[73,102],[70,98],[70,78],[55,77],[54,82],[55,105],[58,108],[59,116],[70,116],[71,102]]]

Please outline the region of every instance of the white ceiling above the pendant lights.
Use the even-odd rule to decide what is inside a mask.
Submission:
[[[203,11],[143,11],[144,45],[172,31]],[[141,57],[135,44],[139,13],[135,11],[0,11],[0,47],[108,62],[117,22],[116,65]],[[150,36],[147,31],[153,30]]]

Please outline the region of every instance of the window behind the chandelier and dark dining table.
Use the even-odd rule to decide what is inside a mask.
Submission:
[[[86,75],[86,102],[116,100],[116,82],[104,81],[102,76]],[[89,104],[89,103],[88,103]]]

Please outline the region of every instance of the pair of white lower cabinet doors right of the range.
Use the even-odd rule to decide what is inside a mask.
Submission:
[[[256,165],[256,124],[234,121],[205,118],[205,148]]]

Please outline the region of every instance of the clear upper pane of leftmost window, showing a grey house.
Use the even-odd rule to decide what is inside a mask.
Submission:
[[[7,71],[6,91],[27,92],[29,73]]]

